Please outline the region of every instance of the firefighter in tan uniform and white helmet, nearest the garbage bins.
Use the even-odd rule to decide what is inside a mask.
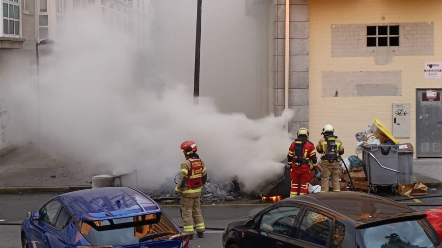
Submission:
[[[329,177],[333,191],[339,191],[339,161],[344,154],[342,141],[334,135],[334,128],[327,124],[322,128],[324,137],[319,140],[316,150],[322,153],[321,157],[321,192],[329,191]]]

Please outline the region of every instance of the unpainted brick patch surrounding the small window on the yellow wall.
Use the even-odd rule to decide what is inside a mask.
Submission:
[[[367,26],[376,25],[399,25],[399,46],[367,47]],[[385,65],[393,56],[433,54],[433,22],[331,25],[331,57],[374,57],[377,65]]]

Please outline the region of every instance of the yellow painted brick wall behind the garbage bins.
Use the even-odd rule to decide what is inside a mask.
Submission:
[[[416,88],[442,88],[441,79],[424,79],[425,62],[441,62],[442,1],[421,0],[309,0],[309,126],[310,140],[321,138],[325,124],[332,124],[344,143],[345,157],[355,154],[355,133],[377,116],[392,132],[392,103],[411,103],[410,138],[415,144]],[[394,56],[391,63],[376,65],[373,57],[331,57],[331,25],[434,22],[434,55]],[[402,71],[402,96],[322,97],[322,72]],[[415,154],[415,153],[414,153]],[[360,157],[360,155],[359,155]]]

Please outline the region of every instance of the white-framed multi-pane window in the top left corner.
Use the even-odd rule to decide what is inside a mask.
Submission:
[[[20,11],[18,0],[3,0],[3,33],[20,35]]]

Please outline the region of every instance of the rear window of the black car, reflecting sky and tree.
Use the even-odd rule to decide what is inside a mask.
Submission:
[[[359,248],[435,248],[439,243],[434,229],[425,219],[356,231],[356,247]]]

